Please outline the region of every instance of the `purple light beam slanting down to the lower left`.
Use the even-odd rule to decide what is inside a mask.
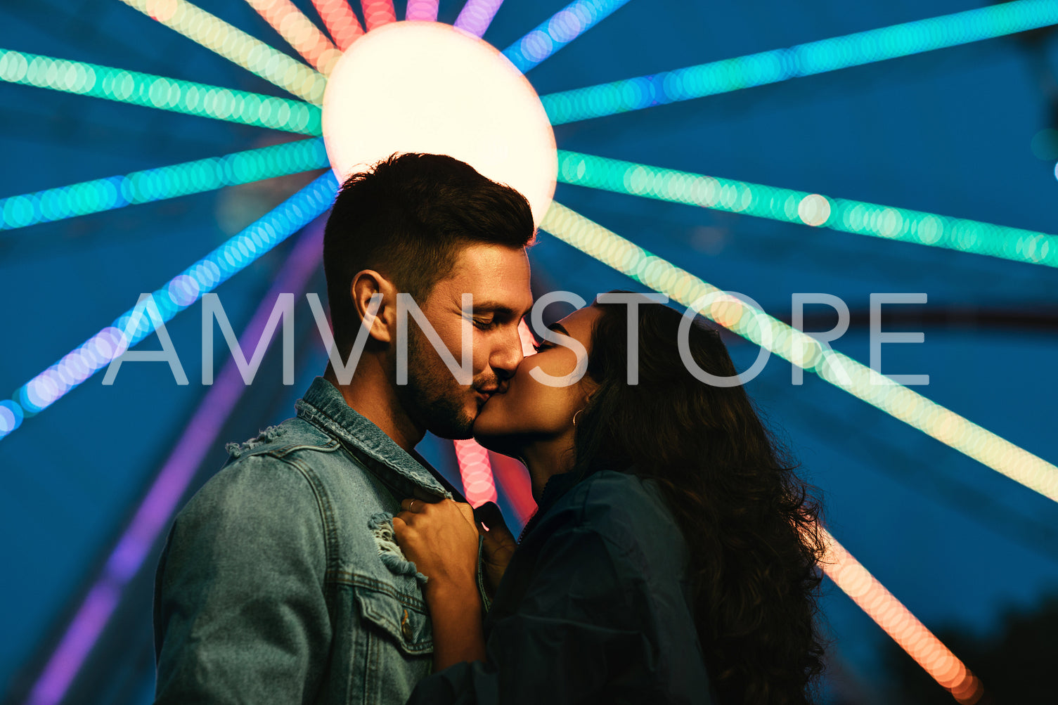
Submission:
[[[253,349],[260,340],[279,293],[305,290],[309,277],[320,263],[323,232],[323,224],[317,223],[307,229],[298,238],[280,277],[264,295],[261,305],[254,312],[239,339],[241,348]],[[233,357],[202,398],[180,440],[169,453],[147,496],[107,560],[103,575],[85,598],[58,648],[41,672],[26,700],[26,705],[55,705],[66,695],[70,683],[80,670],[89,651],[99,638],[116,608],[122,591],[143,565],[147,553],[172,514],[177,502],[183,496],[184,490],[195,476],[195,471],[216,440],[224,420],[231,415],[245,390],[247,385]]]

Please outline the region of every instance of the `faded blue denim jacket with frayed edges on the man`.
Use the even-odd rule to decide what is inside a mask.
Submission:
[[[390,520],[405,496],[453,490],[325,378],[294,408],[229,444],[169,530],[154,582],[158,704],[396,704],[430,673],[425,577]]]

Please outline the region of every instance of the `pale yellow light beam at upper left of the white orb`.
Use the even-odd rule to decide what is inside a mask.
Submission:
[[[326,76],[187,0],[122,2],[299,98],[323,102]]]

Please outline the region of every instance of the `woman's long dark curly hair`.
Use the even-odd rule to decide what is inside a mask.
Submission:
[[[572,471],[621,469],[662,488],[687,540],[703,656],[724,705],[814,702],[826,646],[815,488],[741,385],[689,372],[679,311],[638,306],[639,380],[628,384],[628,308],[592,305],[587,374],[599,387],[577,426]],[[687,340],[700,369],[736,374],[715,329],[695,321]]]

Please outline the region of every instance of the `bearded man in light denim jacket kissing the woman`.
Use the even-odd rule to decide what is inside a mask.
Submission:
[[[423,576],[390,519],[403,498],[453,496],[416,444],[469,437],[522,361],[532,235],[525,198],[451,157],[394,156],[345,182],[324,269],[339,366],[358,348],[359,361],[349,377],[332,356],[295,417],[229,444],[174,522],[156,576],[157,703],[403,703],[430,671]],[[469,384],[443,357],[462,360],[464,292]],[[406,384],[400,293],[448,348],[406,324]]]

